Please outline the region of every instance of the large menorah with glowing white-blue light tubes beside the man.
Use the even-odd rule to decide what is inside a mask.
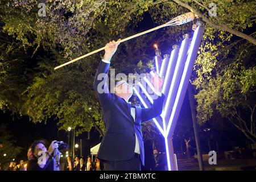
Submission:
[[[153,121],[160,133],[164,136],[168,170],[171,171],[177,170],[172,135],[174,134],[176,122],[179,117],[189,78],[191,77],[197,51],[204,32],[202,22],[199,21],[196,25],[197,28],[193,34],[192,40],[189,39],[188,34],[185,34],[180,49],[177,45],[172,47],[173,50],[171,51],[169,61],[167,56],[164,57],[163,61],[160,55],[156,54],[155,57],[156,72],[164,76],[162,93],[166,96],[166,99],[164,101],[162,114],[160,117],[154,118]],[[150,73],[152,76],[154,75],[154,72],[151,71]],[[147,108],[152,105],[154,101],[150,93],[154,92],[154,87],[147,77],[144,77],[141,82],[138,82],[138,85],[135,85],[133,89],[144,107]],[[140,92],[140,90],[142,92]]]

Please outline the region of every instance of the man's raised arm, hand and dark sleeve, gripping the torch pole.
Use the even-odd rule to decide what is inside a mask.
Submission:
[[[105,54],[101,63],[98,67],[97,73],[94,77],[93,88],[97,93],[98,99],[100,100],[100,104],[102,107],[106,107],[108,103],[112,100],[112,94],[109,93],[107,78],[110,60],[117,50],[118,44],[113,40],[106,44],[108,46],[105,48]]]

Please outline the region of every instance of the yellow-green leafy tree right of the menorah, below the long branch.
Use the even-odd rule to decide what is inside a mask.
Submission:
[[[193,82],[197,86],[197,118],[200,123],[215,114],[228,118],[245,136],[256,142],[255,133],[255,46],[240,40],[236,46],[223,45],[213,48],[212,54],[201,53],[197,59],[199,69]],[[206,48],[205,44],[202,49]],[[210,48],[210,47],[209,47]],[[214,56],[213,56],[214,55]],[[214,65],[206,65],[204,59],[216,59]]]

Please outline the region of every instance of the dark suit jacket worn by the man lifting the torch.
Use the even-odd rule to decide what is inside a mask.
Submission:
[[[164,96],[154,100],[154,104],[151,108],[142,109],[139,105],[135,106],[134,122],[130,114],[131,105],[114,93],[109,93],[108,86],[106,86],[106,76],[109,71],[109,65],[110,64],[101,61],[94,78],[94,89],[100,100],[106,129],[97,158],[109,161],[130,160],[134,156],[136,133],[139,140],[141,162],[144,166],[144,146],[141,123],[160,115]],[[100,75],[101,73],[105,73],[105,77],[102,77],[102,75]],[[100,78],[98,80],[99,75]],[[98,92],[98,86],[104,89],[105,92]]]

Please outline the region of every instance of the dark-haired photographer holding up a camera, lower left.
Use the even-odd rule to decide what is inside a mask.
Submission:
[[[64,142],[53,140],[47,150],[44,140],[36,140],[31,145],[33,159],[27,163],[27,171],[60,171],[59,145]]]

